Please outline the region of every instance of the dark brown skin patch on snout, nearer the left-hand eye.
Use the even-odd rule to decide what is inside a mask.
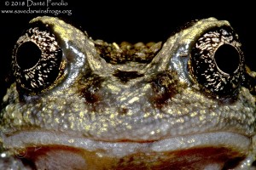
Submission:
[[[98,89],[101,86],[102,78],[93,75],[80,81],[79,93],[89,104],[95,104],[100,100]]]

